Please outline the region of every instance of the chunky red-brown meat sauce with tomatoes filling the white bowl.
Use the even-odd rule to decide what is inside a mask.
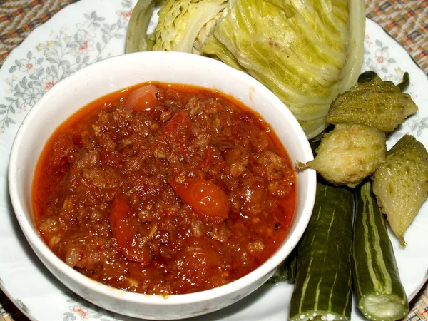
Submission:
[[[36,166],[36,227],[111,287],[175,295],[255,270],[285,239],[295,173],[270,126],[233,98],[145,83],[71,116]]]

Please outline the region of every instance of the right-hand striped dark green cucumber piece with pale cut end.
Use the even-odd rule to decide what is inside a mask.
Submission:
[[[392,321],[407,315],[407,295],[369,180],[356,192],[352,270],[357,306],[367,319]]]

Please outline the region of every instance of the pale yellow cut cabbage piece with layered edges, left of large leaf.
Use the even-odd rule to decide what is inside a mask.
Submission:
[[[200,54],[228,0],[166,0],[153,33],[153,50]]]

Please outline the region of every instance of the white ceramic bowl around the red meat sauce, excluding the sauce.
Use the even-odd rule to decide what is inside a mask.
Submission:
[[[315,171],[297,173],[297,208],[290,233],[257,270],[212,290],[186,295],[142,295],[113,289],[68,267],[49,250],[34,227],[31,183],[39,155],[51,133],[91,101],[113,91],[161,81],[215,88],[242,101],[270,123],[293,163],[312,159],[305,133],[292,113],[265,86],[214,59],[192,54],[151,51],[109,58],[88,66],[51,88],[31,109],[16,135],[9,165],[9,191],[16,218],[40,260],[86,300],[131,317],[170,320],[203,315],[242,299],[256,290],[287,258],[302,236],[315,200]],[[31,286],[31,285],[30,285]]]

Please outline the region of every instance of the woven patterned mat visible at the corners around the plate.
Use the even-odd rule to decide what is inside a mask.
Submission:
[[[0,63],[38,24],[77,0],[0,0]],[[428,73],[428,0],[365,0],[380,24]],[[406,321],[428,320],[428,284],[411,302]],[[28,320],[0,290],[0,321]]]

